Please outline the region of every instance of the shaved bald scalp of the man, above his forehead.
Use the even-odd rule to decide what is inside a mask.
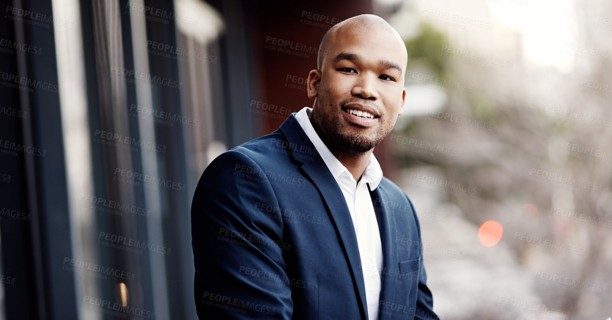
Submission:
[[[321,45],[319,45],[319,52],[316,57],[317,70],[323,70],[323,62],[327,56],[326,52],[329,51],[329,45],[331,42],[334,42],[335,39],[345,36],[348,32],[371,34],[375,31],[383,31],[392,34],[392,37],[394,37],[394,40],[397,43],[397,46],[395,47],[397,50],[401,51],[404,58],[403,67],[405,67],[406,62],[408,62],[408,52],[406,51],[406,46],[404,45],[403,40],[401,40],[400,34],[398,34],[397,31],[395,31],[395,29],[389,23],[387,23],[387,21],[381,17],[378,17],[378,15],[363,14],[343,20],[325,32],[323,39],[321,39]]]

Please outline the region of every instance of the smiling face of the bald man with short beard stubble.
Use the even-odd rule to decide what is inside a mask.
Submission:
[[[400,46],[397,35],[379,28],[349,26],[330,38],[318,90],[309,96],[316,96],[319,130],[341,149],[370,151],[403,113],[406,62]]]

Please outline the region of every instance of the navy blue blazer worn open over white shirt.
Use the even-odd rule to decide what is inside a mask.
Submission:
[[[207,166],[192,203],[200,319],[368,319],[345,197],[292,113]],[[433,319],[419,221],[383,177],[370,191],[383,244],[379,319]]]

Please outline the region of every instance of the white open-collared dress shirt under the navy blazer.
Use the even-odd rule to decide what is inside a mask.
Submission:
[[[353,175],[329,151],[316,133],[308,118],[311,111],[312,108],[308,106],[302,108],[302,110],[296,113],[297,122],[315,145],[316,151],[323,158],[327,168],[332,173],[332,176],[334,176],[334,179],[336,179],[338,186],[340,186],[345,196],[346,205],[349,212],[351,212],[355,234],[357,235],[357,245],[359,245],[369,319],[378,320],[378,303],[381,292],[379,271],[383,270],[383,245],[381,244],[374,206],[366,184],[370,185],[371,190],[376,189],[379,182],[383,179],[383,170],[374,154],[370,154],[370,161],[359,183],[357,183]]]

